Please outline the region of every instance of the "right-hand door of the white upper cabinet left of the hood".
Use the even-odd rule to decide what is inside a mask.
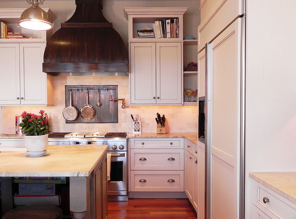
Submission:
[[[42,72],[44,43],[20,43],[21,104],[46,104],[46,73]]]

